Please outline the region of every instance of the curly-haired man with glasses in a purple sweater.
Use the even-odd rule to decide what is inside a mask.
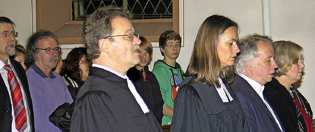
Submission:
[[[58,38],[49,30],[35,32],[26,46],[25,63],[33,101],[35,131],[62,132],[49,122],[49,115],[64,102],[73,100],[63,78],[52,71],[58,62],[61,48]]]

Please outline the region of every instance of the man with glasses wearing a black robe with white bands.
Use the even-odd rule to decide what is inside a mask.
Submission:
[[[80,88],[71,132],[159,132],[153,112],[126,76],[140,62],[131,13],[105,6],[86,18],[83,38],[93,64]]]

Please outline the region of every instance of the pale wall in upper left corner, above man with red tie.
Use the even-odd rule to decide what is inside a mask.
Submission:
[[[32,35],[32,0],[1,0],[0,16],[11,19],[19,33],[16,40],[26,46],[27,39]]]

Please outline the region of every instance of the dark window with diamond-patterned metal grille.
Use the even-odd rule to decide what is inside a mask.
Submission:
[[[73,20],[82,21],[105,5],[126,8],[133,14],[133,19],[173,17],[173,0],[72,0]]]

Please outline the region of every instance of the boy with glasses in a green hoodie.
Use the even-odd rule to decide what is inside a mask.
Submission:
[[[176,62],[181,43],[181,36],[173,30],[165,31],[159,36],[158,45],[164,58],[154,63],[152,72],[158,79],[164,100],[162,125],[170,125],[172,122],[175,97],[184,79],[181,65]]]

